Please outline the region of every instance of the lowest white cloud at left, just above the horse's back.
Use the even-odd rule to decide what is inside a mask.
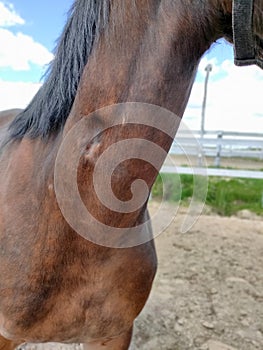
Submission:
[[[0,111],[25,108],[40,86],[41,84],[0,80]]]

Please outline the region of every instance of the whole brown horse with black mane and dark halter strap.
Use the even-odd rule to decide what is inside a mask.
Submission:
[[[236,2],[236,62],[262,65],[262,0],[254,11],[252,0]],[[84,116],[107,105],[143,102],[182,117],[201,56],[218,38],[233,40],[232,12],[232,0],[75,1],[42,88],[11,122],[16,111],[4,112],[1,124],[0,349],[49,341],[128,349],[156,271],[154,243],[117,249],[75,232],[54,190],[57,154]],[[89,132],[98,135],[106,119]],[[172,142],[156,128],[124,123],[87,141],[79,159],[85,206],[116,230],[144,222],[147,201],[129,213],[110,210],[95,194],[92,172],[109,145],[132,138],[165,151]],[[151,188],[156,175],[143,160],[124,161],[113,192],[129,201],[134,179]]]

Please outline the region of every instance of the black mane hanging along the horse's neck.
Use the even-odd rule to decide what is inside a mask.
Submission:
[[[72,5],[45,82],[11,123],[11,139],[46,137],[63,128],[94,40],[109,13],[108,0],[76,0]]]

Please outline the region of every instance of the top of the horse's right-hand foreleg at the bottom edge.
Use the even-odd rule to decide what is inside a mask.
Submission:
[[[84,344],[84,350],[128,350],[131,338],[132,329],[121,334],[118,338]]]

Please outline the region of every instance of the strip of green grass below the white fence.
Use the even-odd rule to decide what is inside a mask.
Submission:
[[[193,175],[158,175],[152,189],[152,198],[189,202],[193,196],[194,181],[197,189],[205,185],[198,178],[200,177],[196,176],[194,179]],[[243,209],[263,215],[263,180],[210,177],[206,204],[224,216],[236,214]]]

